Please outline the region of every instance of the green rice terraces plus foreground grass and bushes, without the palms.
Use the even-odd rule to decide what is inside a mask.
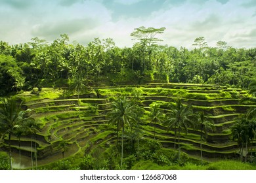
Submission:
[[[116,145],[116,127],[108,124],[106,114],[111,111],[114,99],[119,95],[131,97],[135,88],[142,91],[143,99],[140,106],[144,108],[141,117],[144,124],[140,126],[140,147],[137,142],[133,142],[134,147],[131,146],[131,134],[128,135],[129,138],[125,136],[123,169],[256,169],[253,165],[242,163],[240,166],[235,163],[240,159],[240,148],[236,141],[232,141],[230,131],[230,126],[236,118],[244,114],[248,108],[255,108],[256,103],[242,104],[240,99],[232,98],[230,90],[224,87],[193,84],[97,87],[81,95],[79,101],[77,95],[64,97],[62,89],[43,88],[37,94],[18,94],[18,98],[25,101],[22,108],[31,109],[31,114],[41,124],[41,129],[32,138],[20,137],[20,148],[18,138],[12,135],[14,168],[19,167],[20,149],[21,167],[35,169],[36,144],[37,169],[120,169],[120,143]],[[238,92],[241,93],[241,97],[246,94],[242,90]],[[202,142],[203,165],[200,163],[199,129],[188,128],[187,133],[181,133],[179,139],[182,154],[178,162],[177,151],[174,150],[174,131],[168,131],[162,123],[152,124],[148,118],[151,103],[158,103],[163,111],[169,111],[169,105],[177,98],[180,98],[184,105],[192,105],[194,112],[200,110],[210,114],[214,122],[214,131],[209,132]],[[63,140],[68,143],[64,159],[58,145]],[[8,153],[7,141],[5,138],[6,143],[1,143],[1,151]],[[255,144],[248,149],[255,154]],[[131,153],[139,150],[144,152]],[[225,161],[234,163],[228,167]]]

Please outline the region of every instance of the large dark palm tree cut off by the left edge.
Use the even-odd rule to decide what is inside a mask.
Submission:
[[[16,104],[15,97],[1,99],[0,105],[0,127],[3,132],[2,138],[6,134],[9,136],[9,160],[12,169],[12,155],[11,155],[11,135],[14,134],[14,128],[18,127],[19,124],[30,120],[30,116],[26,116],[26,113],[30,110],[22,111],[21,105]]]

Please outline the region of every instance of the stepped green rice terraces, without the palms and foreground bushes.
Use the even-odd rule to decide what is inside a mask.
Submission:
[[[26,92],[19,95],[25,101],[22,107],[30,108],[32,116],[42,124],[37,135],[20,139],[22,165],[32,166],[30,157],[31,151],[35,152],[35,144],[38,165],[62,159],[62,150],[58,145],[62,140],[68,142],[64,158],[89,153],[95,149],[100,152],[106,150],[116,140],[116,128],[108,125],[106,118],[111,102],[117,95],[131,96],[135,88],[142,90],[144,100],[141,105],[145,111],[149,110],[149,105],[153,102],[160,103],[160,107],[168,111],[169,104],[179,97],[182,103],[192,105],[195,112],[204,110],[205,113],[211,114],[215,131],[209,133],[202,144],[203,156],[209,159],[237,156],[238,146],[232,141],[229,127],[247,108],[256,107],[255,103],[240,103],[240,99],[247,95],[243,90],[196,84],[95,87],[91,92],[79,95],[78,101],[77,95],[67,97],[64,90],[43,88],[39,93]],[[150,119],[146,120],[142,130],[144,138],[154,139],[154,125],[150,123]],[[188,133],[182,133],[181,136],[181,150],[192,157],[199,157],[200,131],[188,129]],[[162,124],[156,124],[156,139],[166,148],[174,146],[174,132],[167,132]],[[11,147],[17,163],[19,161],[17,137],[11,137]],[[2,144],[1,149],[7,151],[7,145]]]

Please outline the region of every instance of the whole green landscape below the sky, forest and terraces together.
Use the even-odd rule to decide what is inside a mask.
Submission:
[[[165,31],[1,41],[0,169],[256,169],[256,48]]]

